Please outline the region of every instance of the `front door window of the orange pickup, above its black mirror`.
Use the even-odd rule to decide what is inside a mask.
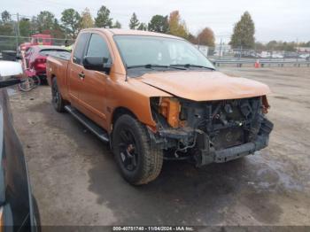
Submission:
[[[111,60],[110,51],[105,39],[97,34],[92,34],[89,40],[88,57],[104,57]]]

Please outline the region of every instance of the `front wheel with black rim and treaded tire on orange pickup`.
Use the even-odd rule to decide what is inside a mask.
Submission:
[[[147,129],[128,114],[120,116],[112,133],[112,149],[122,176],[131,184],[155,180],[163,164],[163,151],[151,147]]]

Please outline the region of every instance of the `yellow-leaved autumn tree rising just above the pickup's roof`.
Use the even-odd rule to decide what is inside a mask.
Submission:
[[[179,11],[174,11],[170,13],[169,28],[169,33],[171,35],[179,36],[185,39],[189,36],[185,21],[181,19]]]

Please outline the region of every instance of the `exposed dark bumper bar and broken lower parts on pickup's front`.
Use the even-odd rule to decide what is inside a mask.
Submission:
[[[172,153],[170,159],[192,159],[196,166],[228,162],[254,154],[255,151],[267,147],[269,134],[274,127],[273,123],[261,114],[257,121],[260,126],[252,127],[252,133],[255,135],[244,143],[215,147],[206,131],[192,127],[163,127],[155,134],[150,131],[151,143],[164,151],[170,151]],[[234,133],[231,135],[236,136]],[[179,144],[182,146],[180,147]],[[169,159],[169,156],[164,156],[164,158]]]

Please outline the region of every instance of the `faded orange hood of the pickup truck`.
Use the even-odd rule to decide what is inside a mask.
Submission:
[[[145,84],[193,101],[258,97],[270,93],[266,84],[217,71],[145,73],[137,78]]]

